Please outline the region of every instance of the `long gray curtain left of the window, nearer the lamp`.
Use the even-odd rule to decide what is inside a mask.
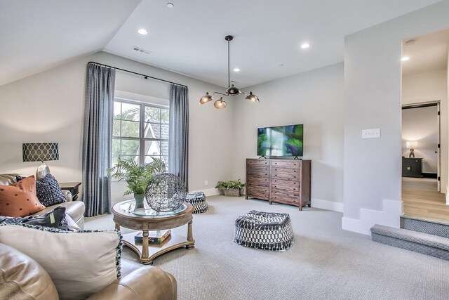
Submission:
[[[111,213],[112,113],[115,70],[88,63],[83,135],[83,202],[85,216]]]

